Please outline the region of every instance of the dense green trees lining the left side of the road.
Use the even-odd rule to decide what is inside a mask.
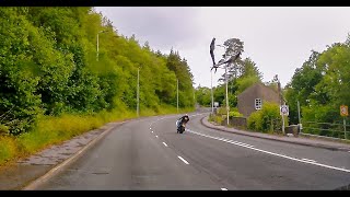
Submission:
[[[195,104],[186,59],[119,35],[92,8],[0,8],[0,125],[13,135],[40,115],[136,112],[138,69],[141,111],[176,106],[177,79],[179,107]]]

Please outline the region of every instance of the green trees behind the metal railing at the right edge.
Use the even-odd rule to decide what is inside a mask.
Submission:
[[[340,105],[350,106],[349,59],[350,36],[345,43],[327,46],[327,49],[323,53],[312,51],[308,60],[295,70],[291,82],[285,88],[292,124],[299,123],[298,101],[301,105],[303,123],[342,123],[339,107]],[[313,127],[328,129],[329,125],[315,125]],[[341,125],[338,130],[342,130]],[[318,130],[317,132],[322,134],[324,131]]]

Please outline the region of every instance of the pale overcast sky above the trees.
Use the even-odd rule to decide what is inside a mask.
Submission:
[[[341,7],[97,7],[119,34],[136,35],[141,45],[168,54],[173,47],[187,59],[195,86],[210,88],[210,42],[244,42],[249,57],[270,81],[279,74],[284,86],[311,50],[345,42],[350,33],[350,8]],[[223,49],[215,48],[215,59]],[[224,69],[213,74],[213,85]]]

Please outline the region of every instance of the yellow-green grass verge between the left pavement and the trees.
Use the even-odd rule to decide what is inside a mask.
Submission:
[[[179,113],[189,113],[195,108],[182,108]],[[174,106],[158,109],[141,108],[140,116],[176,114]],[[100,112],[96,115],[61,115],[38,117],[35,128],[19,137],[0,136],[0,165],[19,158],[36,153],[49,146],[61,143],[83,132],[96,129],[110,121],[136,118],[136,112],[119,108],[113,112]]]

